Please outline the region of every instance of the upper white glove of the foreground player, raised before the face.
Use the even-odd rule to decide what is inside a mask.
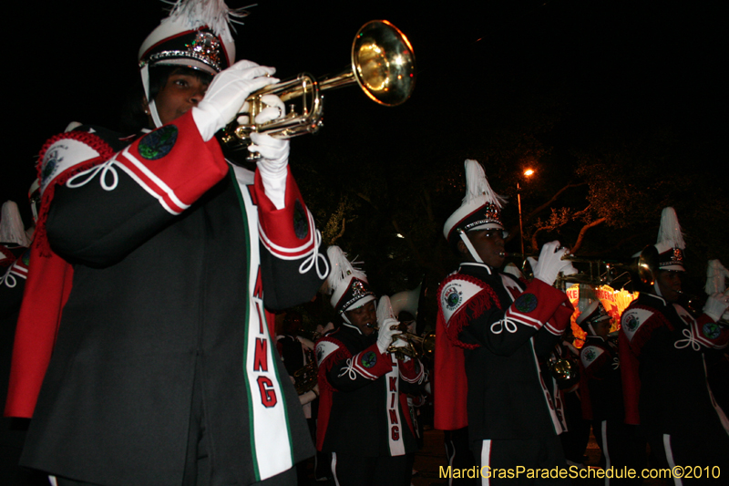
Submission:
[[[274,72],[273,67],[238,61],[212,78],[205,98],[192,109],[202,140],[210,140],[216,131],[230,123],[252,92],[277,83],[278,79],[268,78]]]

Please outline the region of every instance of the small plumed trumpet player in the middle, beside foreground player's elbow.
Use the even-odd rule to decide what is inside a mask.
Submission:
[[[425,371],[390,352],[406,343],[396,338],[395,318],[378,319],[364,272],[339,247],[327,255],[331,304],[342,325],[316,343],[317,449],[330,454],[333,484],[408,486],[416,439],[405,393],[425,386]]]

